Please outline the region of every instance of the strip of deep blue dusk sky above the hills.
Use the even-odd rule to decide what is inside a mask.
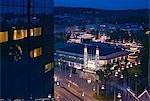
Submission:
[[[86,7],[99,9],[145,9],[149,8],[149,0],[54,0],[55,6]]]

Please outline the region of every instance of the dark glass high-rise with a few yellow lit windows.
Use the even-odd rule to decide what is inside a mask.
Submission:
[[[0,99],[54,96],[53,0],[1,0]]]

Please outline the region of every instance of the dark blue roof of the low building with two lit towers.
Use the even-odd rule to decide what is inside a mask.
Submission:
[[[106,56],[106,55],[117,53],[117,52],[123,52],[127,54],[127,52],[121,50],[121,48],[118,48],[117,46],[111,46],[107,43],[92,42],[92,43],[86,44],[86,46],[88,48],[88,54],[95,54],[96,47],[99,48],[101,56]],[[83,44],[72,44],[70,46],[60,48],[58,50],[76,53],[76,54],[84,54],[84,47],[85,45]]]

